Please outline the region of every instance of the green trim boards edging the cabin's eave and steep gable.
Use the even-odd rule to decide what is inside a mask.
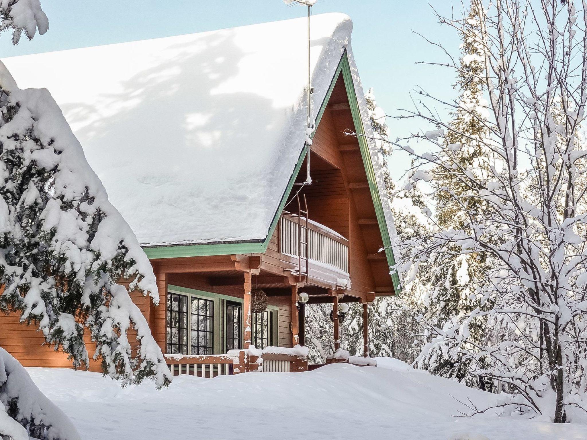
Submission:
[[[371,161],[371,155],[369,152],[369,145],[367,144],[367,140],[365,138],[365,127],[363,127],[363,119],[360,114],[359,110],[359,103],[357,101],[357,96],[355,93],[355,85],[353,83],[352,73],[350,72],[350,65],[348,55],[345,52],[343,53],[342,57],[340,58],[340,62],[338,67],[336,68],[336,72],[333,75],[332,82],[330,83],[330,87],[324,100],[322,101],[322,105],[320,106],[320,110],[318,111],[318,115],[316,116],[316,127],[318,127],[320,121],[322,120],[322,116],[326,110],[326,105],[332,95],[332,91],[334,90],[334,86],[336,84],[336,80],[338,80],[339,75],[342,73],[342,77],[345,83],[346,95],[349,100],[350,104],[350,112],[352,113],[353,123],[355,124],[355,131],[357,133],[357,138],[359,141],[359,148],[361,152],[361,157],[363,158],[363,165],[365,165],[365,172],[367,175],[367,181],[369,182],[369,191],[371,192],[371,197],[373,199],[373,205],[375,206],[375,212],[377,216],[377,224],[379,224],[379,231],[381,233],[383,239],[383,246],[385,248],[385,255],[387,258],[387,263],[390,266],[395,265],[396,260],[393,255],[392,250],[392,242],[389,236],[389,230],[387,229],[387,222],[385,219],[385,215],[383,213],[383,204],[381,200],[381,196],[379,194],[379,188],[377,188],[377,180],[375,177],[375,169],[373,168],[373,163]],[[314,131],[316,133],[316,131]],[[312,137],[314,136],[312,133]],[[294,172],[292,173],[291,177],[289,178],[288,186],[285,189],[284,194],[282,195],[281,202],[279,203],[279,208],[275,212],[275,216],[271,222],[271,227],[265,237],[264,241],[259,242],[228,242],[228,243],[198,243],[196,245],[171,245],[171,246],[153,246],[153,247],[146,247],[143,248],[147,257],[150,259],[157,259],[157,258],[180,258],[180,257],[189,257],[189,256],[207,256],[207,255],[229,255],[229,254],[237,254],[237,253],[265,253],[267,250],[267,246],[269,245],[269,240],[273,235],[275,228],[277,227],[277,223],[279,221],[279,216],[281,212],[285,208],[285,204],[287,202],[288,194],[291,192],[292,188],[294,187],[294,183],[296,177],[298,176],[299,170],[302,168],[303,160],[306,158],[308,154],[308,147],[304,147],[302,153],[299,155],[298,163],[294,168]],[[402,290],[402,286],[400,283],[399,276],[397,273],[393,273],[392,275],[392,282],[393,288],[397,293],[400,293]]]

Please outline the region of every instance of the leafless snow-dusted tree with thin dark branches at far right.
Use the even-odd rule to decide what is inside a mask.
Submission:
[[[444,167],[476,189],[484,207],[471,209],[467,195],[452,193],[464,224],[404,241],[403,269],[437,256],[482,253],[487,278],[473,280],[480,306],[454,325],[430,323],[436,338],[424,350],[443,344],[461,356],[463,347],[473,347],[465,353],[478,365],[471,373],[498,380],[514,394],[504,395],[504,411],[565,422],[585,409],[587,391],[587,153],[577,138],[587,103],[587,11],[572,0],[472,4],[480,31],[470,37],[481,48],[480,80],[487,90],[487,117],[480,120],[487,135],[478,140],[488,152],[487,172],[446,163],[448,154],[463,148],[447,138],[467,135],[428,110],[425,101],[433,97],[426,92],[410,117],[436,125],[417,136],[432,151],[397,144],[424,167],[413,180]],[[467,20],[441,18],[463,33],[469,32]],[[452,59],[447,66],[460,70]],[[440,102],[461,109],[458,100]],[[430,185],[444,191],[433,180]],[[500,339],[478,344],[470,331],[478,318],[498,329]]]

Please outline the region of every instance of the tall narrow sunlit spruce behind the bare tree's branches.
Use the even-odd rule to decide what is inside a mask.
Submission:
[[[467,229],[471,216],[476,218],[485,209],[485,201],[478,197],[480,187],[474,187],[461,180],[453,167],[470,170],[474,175],[488,171],[488,150],[484,148],[484,139],[488,135],[485,127],[487,101],[484,96],[485,64],[483,48],[479,42],[480,21],[475,5],[463,21],[463,32],[460,32],[461,45],[460,66],[456,88],[460,90],[458,108],[452,112],[451,130],[447,130],[445,141],[446,153],[438,154],[443,166],[431,170],[429,178],[433,179],[434,187],[438,188],[432,198],[434,203],[434,219],[442,229]],[[458,148],[454,147],[458,145]],[[449,323],[454,325],[465,319],[467,313],[481,306],[475,289],[480,287],[485,276],[487,259],[483,252],[458,255],[456,258],[445,258],[442,253],[434,254],[435,260],[429,261],[426,273],[427,292],[424,319],[434,327],[443,328]],[[484,344],[490,333],[487,319],[477,317],[469,324],[470,340],[476,344]],[[424,330],[426,333],[426,330]],[[445,340],[446,344],[456,341]],[[494,382],[478,375],[469,374],[470,370],[478,370],[477,360],[468,356],[473,346],[465,347],[459,353],[458,347],[445,347],[443,343],[434,345],[419,358],[419,367],[433,374],[464,381],[471,387],[483,390],[494,390]],[[487,362],[487,358],[481,359]],[[473,365],[471,365],[473,363]],[[488,366],[488,365],[484,365]]]

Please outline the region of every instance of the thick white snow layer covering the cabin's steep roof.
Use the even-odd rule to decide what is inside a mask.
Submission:
[[[317,110],[352,22],[311,29]],[[49,89],[141,244],[266,238],[306,136],[305,18],[4,62]]]

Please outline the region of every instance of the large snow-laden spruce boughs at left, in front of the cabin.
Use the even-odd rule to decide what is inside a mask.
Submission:
[[[76,367],[89,357],[84,329],[104,371],[123,383],[170,381],[149,326],[130,300],[158,304],[156,279],[133,231],[107,199],[47,90],[18,89],[0,65],[0,309],[19,311]],[[126,333],[137,332],[133,351]]]

